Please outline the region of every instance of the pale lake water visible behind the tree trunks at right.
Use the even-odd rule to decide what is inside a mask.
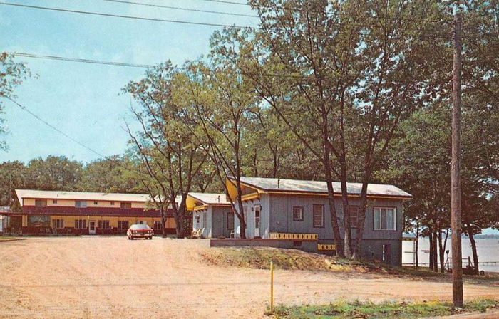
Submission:
[[[478,253],[478,263],[480,266],[480,271],[497,271],[499,272],[499,263],[497,265],[482,265],[484,261],[499,261],[499,239],[475,239],[476,242],[476,250]],[[463,247],[463,258],[471,257],[471,261],[473,262],[473,252],[471,251],[471,244],[468,238],[463,237],[462,240]],[[418,258],[420,263],[428,263],[430,253],[425,252],[430,249],[430,241],[428,238],[420,238],[419,246],[418,246]],[[451,249],[451,236],[447,240],[447,246],[444,248],[444,251],[448,250],[449,257],[452,257],[452,249]],[[413,242],[412,241],[403,241],[402,242],[402,263],[413,263]],[[444,260],[446,260],[447,255],[444,255]],[[440,259],[438,260],[440,263]],[[465,266],[467,262],[463,261],[463,266]],[[428,264],[423,265],[428,266]],[[440,266],[440,265],[439,265]]]

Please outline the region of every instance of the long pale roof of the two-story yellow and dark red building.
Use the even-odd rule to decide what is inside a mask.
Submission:
[[[64,191],[39,191],[34,189],[16,189],[17,198],[22,205],[23,198],[32,199],[73,199],[89,201],[112,202],[148,202],[148,194],[120,194],[120,193],[95,193],[95,192],[64,192]]]

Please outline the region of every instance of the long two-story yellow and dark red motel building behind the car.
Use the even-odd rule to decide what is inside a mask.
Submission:
[[[132,224],[161,229],[160,212],[148,194],[61,192],[16,189],[21,211],[4,213],[4,229],[24,234],[120,234]],[[175,234],[175,219],[167,213],[165,229]]]

